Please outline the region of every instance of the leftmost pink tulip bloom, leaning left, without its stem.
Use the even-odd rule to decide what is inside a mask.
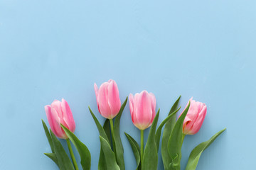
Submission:
[[[50,129],[53,133],[61,138],[68,139],[64,130],[60,127],[60,123],[68,128],[71,132],[75,132],[75,121],[73,119],[72,112],[68,106],[68,102],[62,99],[62,101],[53,101],[51,105],[45,106],[46,116],[50,124]]]

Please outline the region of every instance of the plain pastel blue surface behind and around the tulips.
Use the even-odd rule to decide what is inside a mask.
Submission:
[[[160,121],[180,94],[182,110],[191,96],[207,104],[201,130],[185,138],[181,169],[223,128],[197,169],[255,169],[255,8],[255,0],[0,0],[0,169],[57,169],[43,155],[50,147],[41,119],[48,125],[43,107],[61,98],[97,169],[99,134],[87,106],[103,123],[93,84],[108,79],[122,102],[153,92]],[[124,132],[139,141],[129,105],[120,133],[126,169],[135,169]]]

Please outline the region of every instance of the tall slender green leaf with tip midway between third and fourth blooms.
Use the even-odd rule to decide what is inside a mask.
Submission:
[[[169,112],[169,115],[171,113],[174,113],[176,109],[178,108],[178,101],[180,100],[181,96],[178,97],[174,105],[171,107],[171,110]],[[166,122],[166,125],[164,126],[164,132],[162,137],[162,145],[161,145],[161,155],[164,163],[164,169],[169,169],[169,164],[171,157],[169,156],[168,152],[168,140],[171,136],[171,131],[174,129],[174,125],[176,123],[176,113],[174,115],[171,115],[171,118]]]

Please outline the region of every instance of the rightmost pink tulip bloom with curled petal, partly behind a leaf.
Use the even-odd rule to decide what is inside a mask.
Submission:
[[[183,122],[184,135],[194,135],[200,130],[207,111],[205,103],[194,101],[193,97],[189,101],[191,101],[191,105]]]

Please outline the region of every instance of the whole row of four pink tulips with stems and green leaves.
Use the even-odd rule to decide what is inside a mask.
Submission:
[[[99,170],[124,170],[124,147],[119,133],[120,119],[128,98],[121,105],[119,90],[114,80],[103,83],[98,89],[95,84],[95,95],[97,108],[104,118],[104,125],[101,125],[95,114],[89,107],[90,114],[100,134],[100,157],[98,162]],[[127,140],[132,147],[132,152],[137,163],[137,170],[156,170],[158,164],[158,152],[161,138],[161,131],[164,132],[161,140],[161,157],[165,170],[181,169],[181,147],[186,135],[194,135],[200,130],[203,120],[206,117],[206,104],[194,101],[191,98],[186,108],[176,120],[176,113],[180,110],[178,97],[171,107],[169,115],[156,128],[159,119],[159,112],[156,113],[156,98],[154,94],[142,91],[140,94],[129,94],[129,109],[132,123],[139,129],[141,134],[140,145],[134,138],[125,132]],[[75,160],[71,142],[78,150],[82,169],[88,170],[91,167],[90,151],[75,136],[75,121],[67,101],[53,101],[51,105],[45,106],[50,130],[43,122],[43,128],[51,148],[51,153],[45,153],[53,160],[60,170],[78,170],[78,163]],[[144,148],[144,130],[149,128]],[[225,130],[225,129],[224,129]],[[220,130],[206,142],[195,147],[186,165],[186,170],[194,170],[198,164],[202,152],[224,131]],[[58,138],[66,140],[70,153],[61,145]],[[70,142],[71,141],[71,142]]]

